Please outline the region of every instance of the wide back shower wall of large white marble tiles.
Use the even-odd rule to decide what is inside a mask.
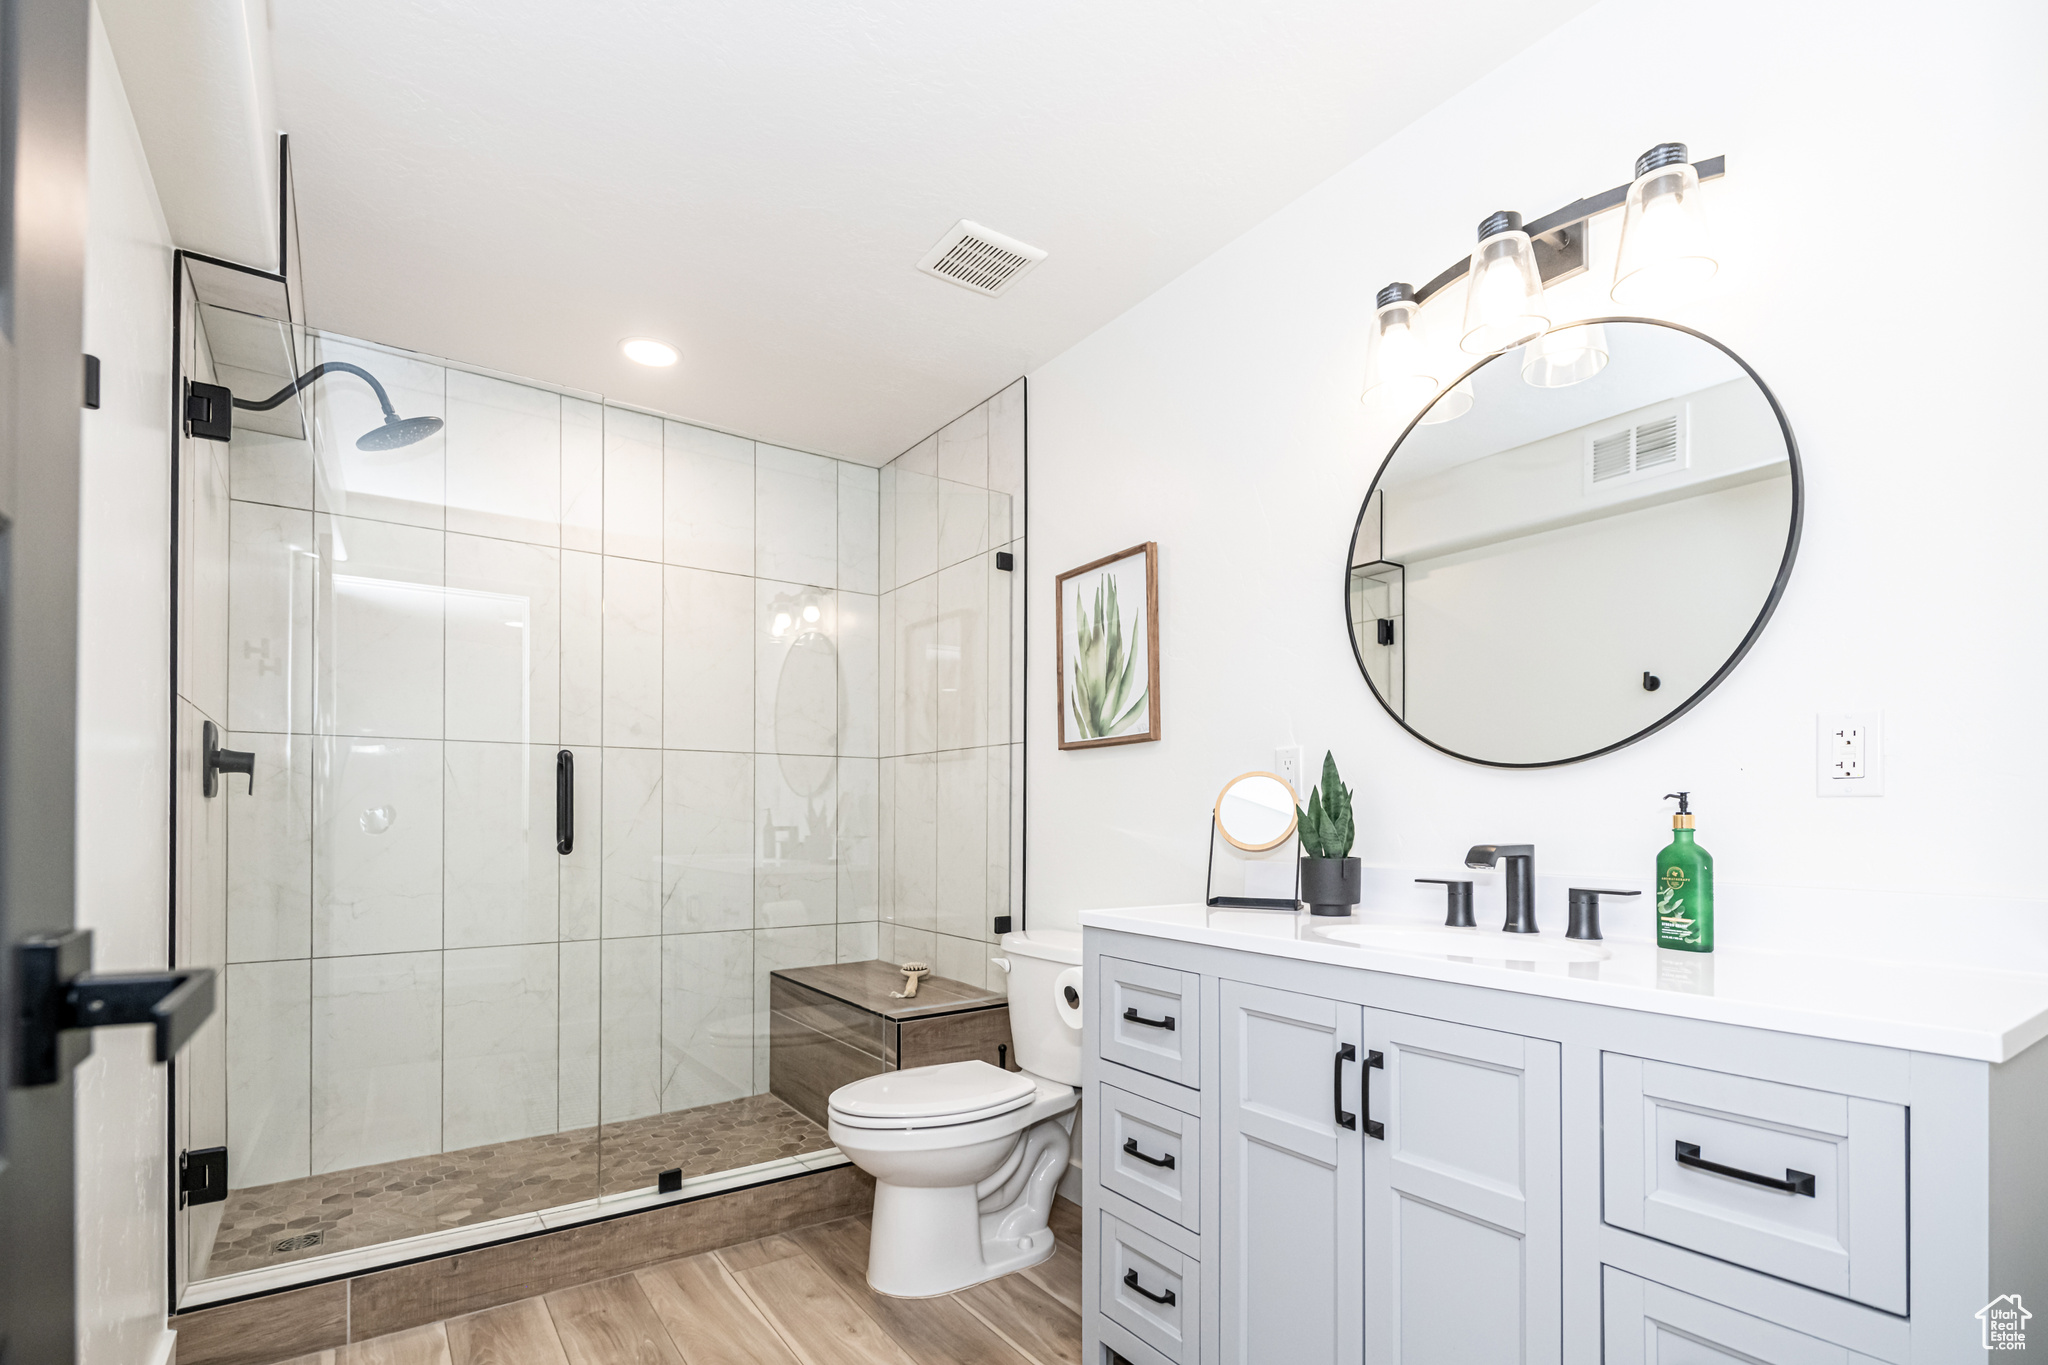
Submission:
[[[227,452],[233,1185],[764,1091],[766,974],[879,952],[879,471],[313,358],[446,426]]]

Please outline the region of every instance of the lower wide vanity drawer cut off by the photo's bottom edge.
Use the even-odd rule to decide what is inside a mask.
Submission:
[[[1608,1365],[1878,1365],[1876,1357],[1602,1267]]]

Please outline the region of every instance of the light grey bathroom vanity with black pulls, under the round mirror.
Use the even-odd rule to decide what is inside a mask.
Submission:
[[[1083,929],[1083,1365],[1927,1365],[1985,1359],[1997,1295],[2048,1324],[2048,982],[1946,982],[2007,993],[1987,1042],[1876,970],[1903,1019],[1817,1015],[1817,964],[1790,1029],[1733,954],[1722,997],[1657,995],[1628,948],[1602,978],[1200,907]]]

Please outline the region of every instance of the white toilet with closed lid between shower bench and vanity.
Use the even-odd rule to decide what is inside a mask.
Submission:
[[[1001,945],[1022,1070],[911,1066],[827,1101],[831,1140],[874,1177],[868,1283],[881,1293],[952,1293],[1053,1254],[1047,1220],[1081,1083],[1081,935],[1036,929]]]

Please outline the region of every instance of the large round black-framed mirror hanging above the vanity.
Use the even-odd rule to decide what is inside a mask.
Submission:
[[[1778,401],[1718,342],[1561,327],[1450,385],[1352,536],[1352,647],[1411,735],[1475,763],[1618,749],[1714,690],[1769,620],[1800,526]]]

